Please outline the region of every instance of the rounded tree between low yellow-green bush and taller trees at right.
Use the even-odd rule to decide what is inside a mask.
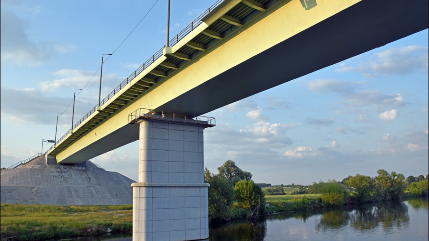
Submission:
[[[345,183],[353,189],[352,196],[356,199],[356,202],[369,202],[372,200],[371,192],[374,188],[374,183],[371,177],[356,174],[354,177],[349,176]]]

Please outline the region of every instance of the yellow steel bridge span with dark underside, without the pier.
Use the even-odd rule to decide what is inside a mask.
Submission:
[[[192,118],[428,28],[427,0],[225,0],[215,6],[47,154],[63,163],[85,161],[138,139],[127,120],[137,108]],[[116,144],[107,145],[113,136]]]

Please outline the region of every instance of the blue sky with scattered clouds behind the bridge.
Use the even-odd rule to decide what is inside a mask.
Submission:
[[[214,0],[171,0],[170,36]],[[151,10],[150,10],[151,9]],[[167,0],[1,0],[1,167],[41,151],[166,42]],[[141,22],[140,22],[141,21]],[[139,24],[140,22],[140,24]],[[125,41],[124,41],[125,40]],[[271,184],[428,174],[428,30],[204,114],[204,162]],[[49,145],[48,145],[49,144]],[[46,151],[51,143],[45,143]],[[92,159],[137,180],[138,141]]]

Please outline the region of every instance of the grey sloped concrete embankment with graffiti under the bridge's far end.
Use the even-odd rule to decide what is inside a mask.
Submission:
[[[135,182],[91,161],[86,166],[46,165],[41,156],[15,169],[1,170],[1,203],[122,205],[133,203]]]

